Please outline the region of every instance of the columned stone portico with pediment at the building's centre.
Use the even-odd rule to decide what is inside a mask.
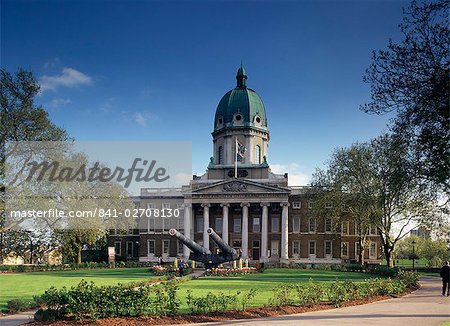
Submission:
[[[275,186],[258,181],[229,179],[206,186],[197,182],[199,187],[185,194],[186,234],[193,234],[197,242],[212,249],[206,233],[212,227],[227,244],[240,250],[243,259],[288,259],[289,189],[282,183]],[[281,250],[275,257],[269,239],[280,242]],[[187,259],[189,250],[185,247],[183,252]]]

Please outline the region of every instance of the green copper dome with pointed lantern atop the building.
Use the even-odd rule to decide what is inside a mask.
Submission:
[[[242,127],[267,130],[266,109],[259,95],[247,87],[247,75],[242,65],[236,80],[236,88],[226,93],[217,106],[214,131]]]

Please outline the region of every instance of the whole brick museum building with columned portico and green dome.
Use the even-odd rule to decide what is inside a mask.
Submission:
[[[158,217],[141,218],[127,234],[112,231],[109,244],[117,256],[144,262],[159,257],[188,259],[189,248],[169,235],[171,228],[216,252],[219,249],[206,232],[213,228],[249,261],[336,264],[358,259],[352,221],[344,216],[335,226],[326,214],[313,216],[309,189],[289,187],[287,174],[271,172],[266,109],[247,87],[242,65],[236,87],[217,106],[212,138],[213,157],[204,175],[194,175],[181,188],[141,189],[136,205],[158,211]],[[160,214],[164,210],[170,214]],[[365,261],[379,263],[375,228],[368,239]]]

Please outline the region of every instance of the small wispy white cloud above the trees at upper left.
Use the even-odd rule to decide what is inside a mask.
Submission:
[[[91,85],[92,77],[73,68],[63,68],[60,75],[47,76],[40,78],[41,92],[48,90],[55,91],[59,87],[75,87],[79,85]]]

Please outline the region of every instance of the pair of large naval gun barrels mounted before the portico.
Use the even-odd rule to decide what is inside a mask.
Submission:
[[[185,235],[181,234],[175,229],[170,229],[169,234],[172,237],[176,237],[181,241],[186,247],[188,247],[192,252],[189,255],[190,260],[194,260],[200,263],[204,263],[205,267],[212,268],[220,265],[222,263],[237,260],[240,258],[239,253],[236,249],[227,245],[220,236],[214,232],[213,229],[209,228],[207,230],[208,235],[213,239],[213,241],[219,246],[221,252],[218,254],[213,254],[209,249],[199,245],[195,241],[192,241]]]

